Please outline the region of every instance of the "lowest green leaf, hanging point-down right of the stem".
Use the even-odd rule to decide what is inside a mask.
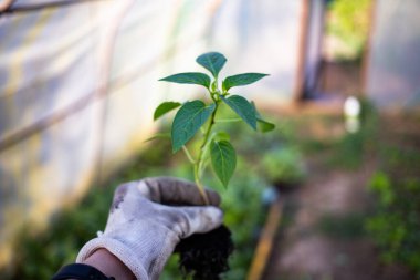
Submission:
[[[211,164],[224,187],[237,167],[237,154],[228,141],[213,141],[210,147]]]

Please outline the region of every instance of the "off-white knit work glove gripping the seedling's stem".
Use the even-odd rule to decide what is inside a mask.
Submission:
[[[170,177],[146,178],[118,186],[104,234],[88,241],[77,262],[105,248],[140,280],[156,280],[180,239],[210,231],[222,222],[220,197],[195,184]]]

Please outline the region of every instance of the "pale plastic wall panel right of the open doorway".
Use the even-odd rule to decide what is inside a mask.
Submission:
[[[376,0],[367,95],[382,108],[420,105],[420,1]]]

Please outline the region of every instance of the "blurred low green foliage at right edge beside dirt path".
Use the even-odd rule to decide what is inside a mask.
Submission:
[[[386,262],[401,262],[420,279],[420,178],[377,172],[370,180],[377,197],[366,228]]]

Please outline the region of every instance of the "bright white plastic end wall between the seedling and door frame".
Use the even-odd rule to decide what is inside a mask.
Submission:
[[[296,86],[303,1],[221,1],[212,21],[211,48],[228,55],[225,73],[262,72],[270,76],[248,86],[256,102],[290,102]],[[223,73],[222,73],[223,74]]]

